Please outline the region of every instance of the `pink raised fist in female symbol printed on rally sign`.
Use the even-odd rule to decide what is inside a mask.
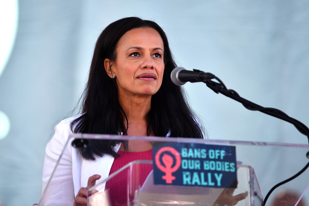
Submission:
[[[175,166],[172,167],[174,163],[174,158],[167,153],[163,154],[163,157],[162,157],[162,162],[165,166],[161,164],[160,156],[163,152],[170,152],[171,154],[174,155],[176,159]],[[181,164],[180,154],[176,149],[172,147],[162,147],[161,149],[159,149],[159,151],[155,155],[155,164],[157,165],[159,170],[165,173],[165,175],[162,176],[162,179],[165,179],[165,183],[171,184],[173,180],[176,179],[176,177],[173,176],[172,173],[177,171]]]

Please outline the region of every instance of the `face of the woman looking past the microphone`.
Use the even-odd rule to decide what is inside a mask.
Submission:
[[[126,32],[117,44],[116,61],[109,62],[118,94],[155,94],[163,79],[163,53],[163,40],[155,29],[136,28]]]

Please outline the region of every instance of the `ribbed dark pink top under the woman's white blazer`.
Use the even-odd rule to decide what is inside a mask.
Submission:
[[[112,168],[109,174],[114,173],[116,170],[119,170],[121,167],[125,166],[129,162],[132,162],[135,160],[152,160],[152,149],[143,151],[143,152],[118,151],[117,153],[120,155],[120,157],[114,159],[114,162],[112,164]],[[138,185],[140,185],[141,187],[143,183],[145,182],[145,179],[147,178],[148,174],[152,170],[152,168],[153,168],[152,164],[136,165],[136,168],[134,168],[134,174],[136,174],[135,178],[137,179],[134,182],[138,183]],[[108,190],[109,200],[112,206],[127,205],[128,173],[129,173],[129,168],[126,168],[125,170],[121,171],[115,177],[113,177],[112,179],[106,182],[105,190],[106,191]],[[133,180],[135,179],[133,175],[131,176],[131,178]],[[136,188],[134,188],[133,191],[135,191],[139,187],[138,185],[135,186]],[[130,195],[134,194],[134,192],[130,192],[130,193],[131,193]]]

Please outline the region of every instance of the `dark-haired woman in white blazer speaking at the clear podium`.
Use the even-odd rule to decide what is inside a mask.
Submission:
[[[95,45],[82,114],[62,120],[46,147],[43,190],[71,132],[203,138],[181,87],[170,80],[175,67],[167,37],[155,22],[129,17],[108,25]],[[150,142],[133,140],[91,140],[85,150],[68,145],[44,204],[86,205],[87,188],[96,180],[128,163],[126,155],[134,160],[144,152],[143,159],[151,159],[151,148]],[[147,175],[151,168],[145,170]]]

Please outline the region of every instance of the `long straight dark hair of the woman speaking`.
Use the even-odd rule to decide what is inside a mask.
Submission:
[[[127,135],[128,119],[117,98],[117,87],[104,69],[104,60],[116,60],[116,45],[119,39],[131,29],[140,27],[154,28],[163,39],[165,69],[160,89],[151,98],[151,108],[147,115],[147,135],[165,137],[203,138],[200,125],[193,115],[182,88],[171,82],[171,71],[176,67],[167,37],[155,22],[137,17],[119,19],[109,24],[100,34],[93,53],[87,86],[82,99],[82,115],[70,124],[74,133]],[[126,124],[124,123],[126,120]],[[95,160],[104,154],[117,157],[113,147],[119,142],[91,140],[86,149],[80,149],[83,158]],[[127,141],[122,141],[125,149]]]

